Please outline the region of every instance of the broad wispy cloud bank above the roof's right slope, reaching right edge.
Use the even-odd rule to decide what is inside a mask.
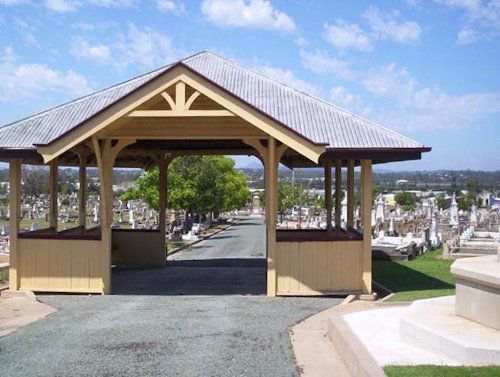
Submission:
[[[358,93],[335,86],[330,91],[334,104],[394,129],[459,129],[500,114],[500,92],[453,95],[438,86],[423,85],[395,63],[366,70],[321,51],[301,51],[300,55],[305,68],[350,80],[371,94],[367,101],[366,96],[363,100]]]

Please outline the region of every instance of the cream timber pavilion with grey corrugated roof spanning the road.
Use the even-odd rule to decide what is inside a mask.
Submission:
[[[10,170],[10,289],[111,292],[112,254],[165,266],[167,166],[189,154],[255,155],[265,168],[267,294],[372,290],[372,165],[421,158],[430,148],[210,52],[0,128]],[[278,164],[323,167],[327,229],[277,231]],[[19,232],[21,165],[50,166],[50,228]],[[57,229],[58,166],[80,169],[79,226]],[[160,168],[157,231],[112,229],[113,168]],[[362,230],[353,227],[361,167]],[[86,168],[100,177],[100,224],[85,227]],[[347,173],[347,225],[332,203]],[[332,209],[335,208],[335,219]],[[335,220],[335,221],[333,221]],[[336,224],[336,226],[332,226]]]

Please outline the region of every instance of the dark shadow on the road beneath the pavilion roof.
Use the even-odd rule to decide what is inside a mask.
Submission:
[[[265,295],[266,260],[169,261],[165,268],[113,270],[116,295]]]

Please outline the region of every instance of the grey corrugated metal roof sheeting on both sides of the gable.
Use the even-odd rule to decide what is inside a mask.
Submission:
[[[210,52],[181,61],[184,65],[269,117],[328,148],[423,148],[335,105],[312,97]],[[0,128],[0,147],[32,148],[47,144],[174,66],[169,65],[43,113]]]

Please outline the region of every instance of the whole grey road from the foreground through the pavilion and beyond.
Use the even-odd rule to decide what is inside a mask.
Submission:
[[[264,296],[250,223],[207,241],[215,258],[115,271],[113,295],[39,296],[59,311],[0,338],[0,375],[298,376],[289,328],[340,299]]]

